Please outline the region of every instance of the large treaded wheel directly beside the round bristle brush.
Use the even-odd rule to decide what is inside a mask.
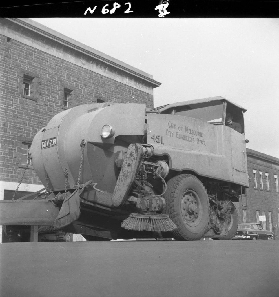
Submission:
[[[209,223],[209,200],[202,182],[191,174],[181,174],[167,182],[164,213],[177,225],[176,240],[199,240]]]

